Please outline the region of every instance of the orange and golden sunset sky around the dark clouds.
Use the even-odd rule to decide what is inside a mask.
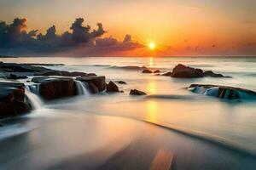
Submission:
[[[26,30],[45,34],[55,25],[61,34],[84,18],[92,29],[102,23],[101,38],[122,42],[128,34],[142,44],[113,48],[117,55],[256,55],[255,7],[255,0],[1,0],[0,20],[26,18]]]

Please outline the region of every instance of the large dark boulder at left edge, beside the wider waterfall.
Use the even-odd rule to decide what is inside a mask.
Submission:
[[[0,118],[18,116],[31,110],[25,99],[25,85],[20,82],[0,82]]]

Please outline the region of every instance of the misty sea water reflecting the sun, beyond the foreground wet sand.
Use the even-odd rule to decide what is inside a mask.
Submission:
[[[93,72],[98,76],[106,76],[107,82],[110,80],[127,82],[127,84],[117,84],[120,90],[125,91],[124,94],[95,95],[88,93],[86,84],[76,82],[81,95],[71,99],[48,102],[47,105],[44,104],[41,106],[43,110],[36,110],[25,116],[26,118],[29,117],[29,120],[26,120],[26,123],[20,124],[19,122],[19,127],[27,127],[27,129],[38,127],[44,124],[45,121],[51,122],[52,117],[56,119],[56,117],[61,116],[104,115],[125,117],[129,120],[135,119],[167,127],[171,131],[177,129],[201,137],[203,140],[212,141],[214,144],[220,144],[222,147],[244,150],[245,153],[256,156],[255,100],[226,101],[194,94],[185,89],[192,83],[202,83],[247,88],[256,91],[255,58],[56,57],[3,59],[3,62],[60,63],[65,65],[47,66],[47,68],[61,71]],[[214,71],[232,78],[177,79],[141,73],[143,66],[152,68],[152,70],[172,71],[172,68],[179,63],[201,68],[204,71]],[[144,91],[148,96],[130,96],[130,89],[133,88]],[[29,98],[33,98],[35,94],[30,93],[32,92],[28,93]],[[37,109],[38,105],[34,105],[34,108]],[[40,114],[38,114],[39,112]],[[82,117],[81,120],[83,120]],[[13,131],[15,131],[17,129],[13,125],[4,128],[2,131],[0,129],[0,136],[1,133],[4,133],[4,130],[11,131],[13,128]]]

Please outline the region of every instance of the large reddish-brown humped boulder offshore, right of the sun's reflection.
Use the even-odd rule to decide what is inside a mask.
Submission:
[[[176,65],[172,70],[172,77],[177,78],[196,78],[203,76],[201,69],[195,69],[181,64]]]

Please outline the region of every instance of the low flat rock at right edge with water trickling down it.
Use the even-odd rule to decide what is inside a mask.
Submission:
[[[208,95],[219,99],[256,99],[256,92],[245,88],[212,84],[191,84],[189,88],[196,94]]]

